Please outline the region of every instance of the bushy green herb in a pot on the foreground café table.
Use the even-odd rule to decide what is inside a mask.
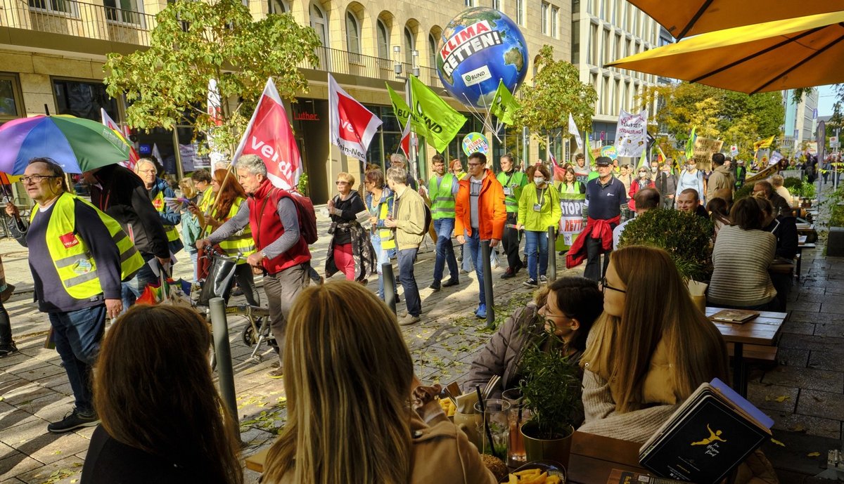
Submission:
[[[555,460],[567,466],[571,434],[582,421],[580,373],[563,347],[558,336],[545,331],[522,350],[519,389],[523,408],[531,413],[521,428],[528,462]]]

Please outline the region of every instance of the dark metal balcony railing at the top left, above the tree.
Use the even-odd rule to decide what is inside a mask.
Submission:
[[[155,17],[76,0],[0,0],[0,25],[149,46]]]

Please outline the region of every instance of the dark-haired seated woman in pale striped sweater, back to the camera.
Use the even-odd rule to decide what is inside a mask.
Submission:
[[[712,250],[712,277],[706,301],[731,309],[771,309],[776,289],[768,269],[776,253],[776,236],[764,228],[765,213],[752,198],[733,204],[732,225],[718,232]]]

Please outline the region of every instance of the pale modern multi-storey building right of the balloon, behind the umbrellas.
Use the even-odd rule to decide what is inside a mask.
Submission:
[[[640,110],[634,99],[645,86],[669,82],[604,65],[671,42],[666,30],[625,0],[571,0],[571,63],[579,67],[581,82],[592,84],[598,92],[589,133],[593,148],[615,143],[619,111]],[[650,119],[654,109],[649,106]]]

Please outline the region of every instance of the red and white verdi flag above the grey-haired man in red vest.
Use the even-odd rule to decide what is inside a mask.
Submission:
[[[243,154],[255,154],[263,159],[267,165],[267,177],[274,186],[289,190],[299,183],[302,157],[273,78],[269,78],[264,86],[232,163],[236,164]]]

